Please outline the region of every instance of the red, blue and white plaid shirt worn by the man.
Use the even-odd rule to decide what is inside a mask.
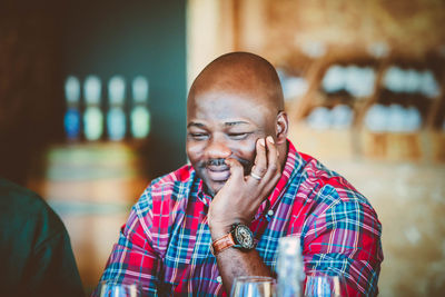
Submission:
[[[210,202],[190,165],[154,180],[122,226],[101,279],[138,281],[149,296],[226,296],[209,249]],[[250,229],[271,271],[278,239],[295,235],[306,273],[344,275],[349,296],[377,294],[383,253],[376,212],[343,177],[290,141],[283,176]]]

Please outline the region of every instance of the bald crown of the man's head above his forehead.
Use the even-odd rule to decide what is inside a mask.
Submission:
[[[210,62],[195,79],[188,103],[202,92],[234,92],[273,110],[284,109],[281,85],[275,68],[264,58],[231,52]]]

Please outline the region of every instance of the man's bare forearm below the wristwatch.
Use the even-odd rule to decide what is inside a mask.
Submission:
[[[271,276],[270,269],[255,249],[241,251],[231,247],[219,253],[216,259],[227,293],[230,293],[238,276]]]

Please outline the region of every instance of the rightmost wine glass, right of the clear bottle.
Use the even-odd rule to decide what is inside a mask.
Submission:
[[[306,276],[305,297],[347,297],[346,280],[339,275],[313,273]]]

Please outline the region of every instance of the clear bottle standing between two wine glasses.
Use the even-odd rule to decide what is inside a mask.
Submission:
[[[303,296],[305,270],[299,237],[283,237],[278,241],[277,297]]]

